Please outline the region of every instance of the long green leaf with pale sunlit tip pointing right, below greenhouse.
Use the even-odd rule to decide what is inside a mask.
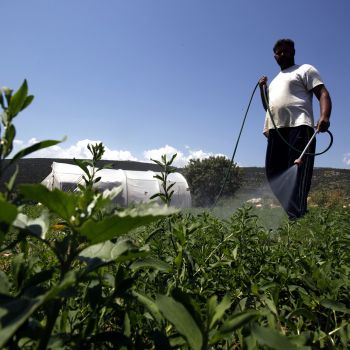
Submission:
[[[139,206],[118,212],[114,216],[106,217],[100,221],[89,219],[79,228],[79,232],[87,237],[91,243],[100,243],[176,212],[175,209],[156,205]]]

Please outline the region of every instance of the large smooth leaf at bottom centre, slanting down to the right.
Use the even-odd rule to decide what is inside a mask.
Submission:
[[[181,303],[171,297],[160,295],[157,297],[156,305],[163,316],[186,338],[192,349],[200,350],[202,348],[202,332],[191,314]]]

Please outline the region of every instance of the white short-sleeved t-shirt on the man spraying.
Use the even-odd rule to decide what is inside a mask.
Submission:
[[[294,65],[277,74],[268,88],[269,106],[277,128],[299,125],[314,127],[312,89],[320,84],[323,84],[323,80],[310,64]],[[273,128],[267,111],[264,133]]]

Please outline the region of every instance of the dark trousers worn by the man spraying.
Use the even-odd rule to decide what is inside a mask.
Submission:
[[[290,219],[300,218],[307,211],[307,196],[311,187],[314,156],[304,155],[300,166],[294,161],[306,147],[314,130],[306,125],[278,129],[283,138],[294,148],[290,148],[275,129],[269,130],[266,150],[266,177],[272,192],[281,203]],[[315,153],[316,139],[306,152]],[[293,169],[291,169],[293,167]],[[290,176],[285,174],[290,173]]]

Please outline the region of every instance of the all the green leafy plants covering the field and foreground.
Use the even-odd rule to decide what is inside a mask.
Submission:
[[[21,89],[6,121],[25,107]],[[94,165],[103,146],[89,150]],[[11,181],[0,195],[0,348],[348,348],[349,209],[275,230],[246,207],[226,220],[119,209],[89,164],[77,192],[26,185],[15,197]]]

